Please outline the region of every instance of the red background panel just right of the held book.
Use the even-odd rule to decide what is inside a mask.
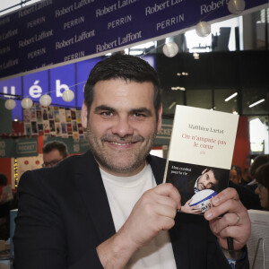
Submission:
[[[249,128],[247,116],[239,117],[239,126],[234,145],[232,165],[238,165],[242,171],[247,168],[247,158],[249,156]]]

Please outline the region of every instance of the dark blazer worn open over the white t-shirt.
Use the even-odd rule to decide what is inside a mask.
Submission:
[[[148,161],[161,184],[165,160]],[[15,269],[102,268],[96,247],[116,231],[91,152],[25,172],[18,192]],[[169,234],[178,268],[230,269],[203,216],[178,213]],[[243,264],[248,268],[246,259]]]

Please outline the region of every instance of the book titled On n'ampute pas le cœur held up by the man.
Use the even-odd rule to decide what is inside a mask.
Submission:
[[[228,187],[239,116],[176,106],[163,182],[181,195],[181,211],[203,214]]]

